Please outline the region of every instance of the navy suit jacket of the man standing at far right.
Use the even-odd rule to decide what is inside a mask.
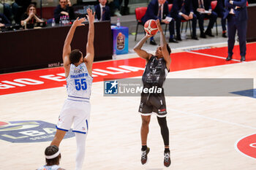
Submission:
[[[233,4],[230,4],[229,0],[225,0],[226,12],[224,14],[224,18],[227,18],[227,15],[229,14],[230,9],[233,8],[235,12],[235,16],[239,21],[247,20],[248,14],[247,14],[246,1],[247,0],[234,0]],[[235,9],[236,6],[240,8]]]

